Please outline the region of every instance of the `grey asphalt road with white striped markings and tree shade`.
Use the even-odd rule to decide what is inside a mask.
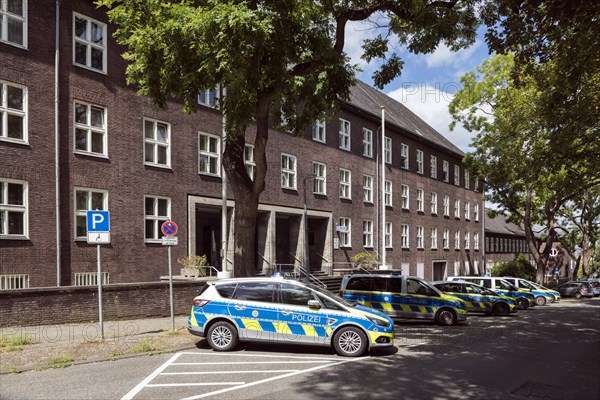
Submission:
[[[597,399],[600,298],[439,327],[399,321],[396,347],[331,349],[205,341],[175,354],[0,376],[2,399]]]

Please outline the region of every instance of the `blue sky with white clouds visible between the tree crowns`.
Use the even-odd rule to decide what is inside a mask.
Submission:
[[[360,59],[362,40],[377,32],[371,27],[372,25],[364,22],[349,24],[344,50],[351,62],[358,64],[363,70],[358,78],[372,85],[371,76],[378,65],[367,64]],[[460,87],[460,76],[474,70],[489,57],[483,39],[484,30],[480,29],[478,33],[477,41],[470,48],[456,53],[444,45],[426,55],[415,55],[401,49],[400,56],[404,60],[402,76],[383,89],[384,93],[400,101],[464,152],[470,150],[473,134],[461,126],[450,131],[448,125],[452,119],[448,113],[448,103]]]

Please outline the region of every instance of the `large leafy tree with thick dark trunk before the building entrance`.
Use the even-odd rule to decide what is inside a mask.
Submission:
[[[223,165],[235,199],[236,276],[255,273],[255,227],[265,186],[270,123],[286,121],[299,133],[338,101],[347,100],[356,67],[345,55],[349,21],[381,15],[385,34],[365,41],[363,57],[383,63],[373,78],[382,87],[397,77],[402,60],[389,52],[403,44],[415,53],[440,42],[453,50],[475,39],[475,6],[482,0],[97,0],[107,6],[124,45],[127,80],[159,107],[183,99],[195,110],[197,93],[222,85],[226,116]],[[256,130],[256,169],[243,162],[245,134]]]

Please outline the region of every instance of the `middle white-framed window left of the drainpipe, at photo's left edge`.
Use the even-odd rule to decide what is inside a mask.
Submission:
[[[27,143],[25,86],[0,81],[0,140]]]

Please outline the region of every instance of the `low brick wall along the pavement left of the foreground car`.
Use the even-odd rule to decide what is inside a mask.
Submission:
[[[173,282],[175,315],[190,312],[204,281]],[[169,283],[102,286],[105,321],[169,317]],[[98,287],[65,286],[0,291],[0,327],[53,325],[98,321]]]

